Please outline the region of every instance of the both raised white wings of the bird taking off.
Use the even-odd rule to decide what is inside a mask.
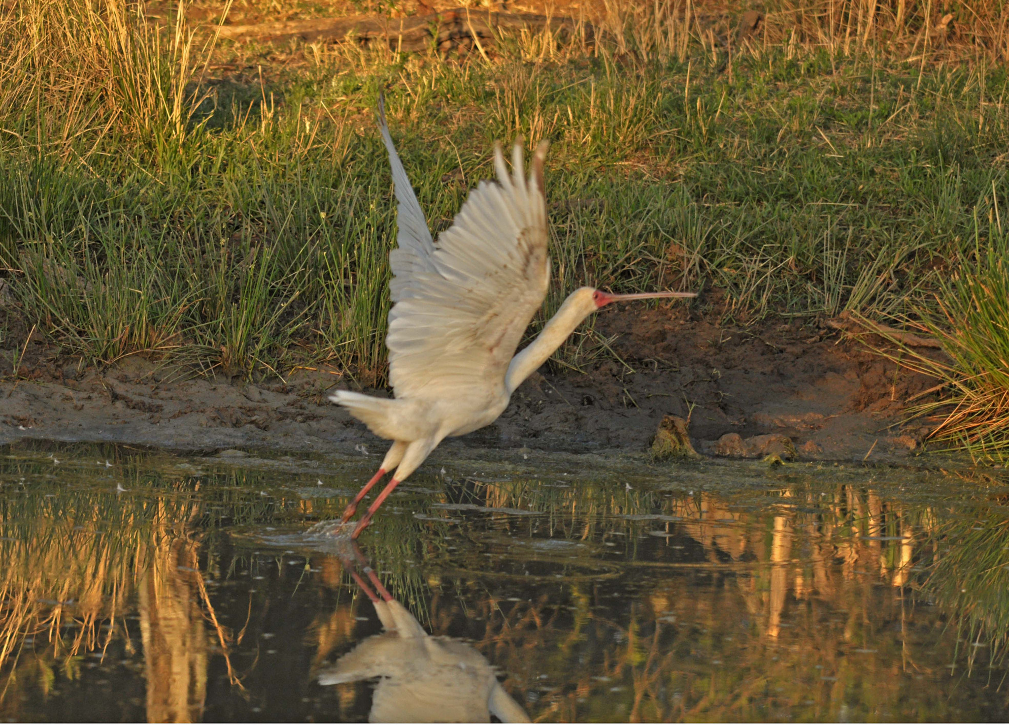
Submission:
[[[379,109],[381,107],[379,106]],[[432,244],[384,114],[379,126],[399,202],[399,249],[389,255],[389,382],[398,398],[452,397],[503,383],[523,333],[547,293],[546,143],[528,178],[521,143],[513,172],[494,150],[496,182],[469,194],[451,228]]]

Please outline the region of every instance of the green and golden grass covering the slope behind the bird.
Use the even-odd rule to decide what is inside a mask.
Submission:
[[[910,5],[889,44],[817,37],[825,16],[781,32],[783,5],[727,67],[700,25],[643,10],[596,46],[506,38],[491,63],[212,48],[116,3],[4,10],[4,346],[20,350],[16,323],[88,363],[327,361],[381,381],[396,216],[379,89],[436,230],[490,174],[495,139],[551,140],[556,279],[535,325],[585,283],[700,290],[693,305],[736,324],[934,310],[950,270],[1001,239],[1007,76],[996,45],[912,55]],[[215,77],[222,63],[245,70]],[[591,336],[559,360],[601,350]]]

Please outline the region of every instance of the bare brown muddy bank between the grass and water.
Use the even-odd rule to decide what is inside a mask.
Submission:
[[[631,307],[600,315],[596,330],[615,336],[609,347],[621,361],[582,372],[544,367],[495,424],[454,446],[645,451],[663,416],[675,414],[688,419],[695,448],[709,456],[757,456],[748,439],[781,435],[799,459],[875,461],[906,457],[926,433],[895,425],[905,401],[934,381],[835,330],[780,321],[725,328],[685,311]],[[0,355],[10,361],[21,353]],[[106,441],[208,452],[384,446],[328,402],[331,388],[347,385],[336,373],[298,370],[286,381],[258,383],[184,380],[140,357],[80,370],[41,341],[30,342],[22,360],[20,378],[0,383],[0,443]]]

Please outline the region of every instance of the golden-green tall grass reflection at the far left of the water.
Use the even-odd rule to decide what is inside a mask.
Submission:
[[[144,468],[148,455],[111,447],[61,447],[57,456],[59,469],[30,448],[0,463],[0,702],[15,682],[47,692],[54,669],[76,678],[78,654],[108,646],[152,558],[187,530],[261,520],[275,508],[247,496],[261,474],[165,476]],[[101,476],[106,459],[114,478]],[[19,662],[29,635],[46,645]]]

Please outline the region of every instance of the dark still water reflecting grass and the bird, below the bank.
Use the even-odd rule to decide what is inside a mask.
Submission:
[[[447,452],[355,562],[375,464],[5,450],[0,718],[1009,716],[998,476]]]

